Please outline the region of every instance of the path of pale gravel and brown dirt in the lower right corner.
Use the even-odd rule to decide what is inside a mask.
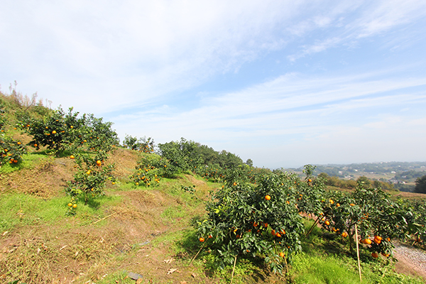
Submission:
[[[426,252],[413,246],[395,244],[394,256],[398,259],[395,270],[398,273],[418,275],[426,281]]]

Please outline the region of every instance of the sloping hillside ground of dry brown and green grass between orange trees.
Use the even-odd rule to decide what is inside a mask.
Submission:
[[[35,111],[13,96],[3,95],[0,103],[6,109],[2,135],[23,144],[32,138],[15,127],[19,119],[50,111]],[[217,256],[202,249],[192,223],[202,219],[209,191],[222,183],[186,171],[136,186],[129,178],[136,165],[155,155],[115,147],[102,163],[115,165],[116,180],[87,204],[80,200],[72,214],[65,187],[79,168],[70,152],[28,147],[19,163],[1,165],[0,283],[130,284],[136,282],[131,273],[143,276],[136,283],[229,283],[233,271],[233,283],[359,283],[346,241],[317,226],[283,274],[257,258],[220,268]],[[312,224],[305,218],[306,231]],[[361,261],[363,283],[424,283],[396,273],[391,258],[373,260],[361,250]]]

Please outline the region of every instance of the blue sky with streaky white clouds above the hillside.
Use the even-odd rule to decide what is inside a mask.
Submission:
[[[425,50],[424,0],[0,4],[1,92],[266,168],[425,161]]]

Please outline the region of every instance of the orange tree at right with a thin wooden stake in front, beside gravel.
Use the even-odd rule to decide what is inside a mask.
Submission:
[[[356,225],[361,243],[366,244],[373,257],[378,253],[390,256],[394,239],[404,240],[421,228],[408,203],[394,202],[383,190],[368,187],[363,182],[349,194],[330,193],[323,204],[324,228],[345,239],[348,236],[352,251]]]

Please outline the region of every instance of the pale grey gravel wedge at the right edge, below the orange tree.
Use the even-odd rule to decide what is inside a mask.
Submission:
[[[426,280],[426,252],[413,246],[395,244],[394,256]]]

